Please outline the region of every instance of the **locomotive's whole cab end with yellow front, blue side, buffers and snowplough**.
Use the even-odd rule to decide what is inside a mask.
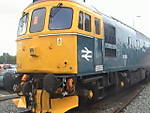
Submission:
[[[24,97],[15,103],[42,113],[77,107],[78,77],[103,70],[102,38],[102,16],[76,2],[45,0],[31,4],[18,28],[17,72],[21,83],[14,89],[22,91]],[[92,91],[86,92],[92,98]]]

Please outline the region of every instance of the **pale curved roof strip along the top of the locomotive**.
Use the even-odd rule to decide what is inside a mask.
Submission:
[[[82,2],[82,1],[80,1],[80,0],[37,0],[36,2],[33,2],[31,5],[36,4],[36,3],[40,3],[40,2],[45,2],[45,1],[70,1],[70,2],[74,2],[74,3],[78,3],[78,4],[80,4],[80,5],[84,6],[84,7],[86,7],[86,8],[88,8],[88,9],[92,10],[92,11],[95,12],[95,13],[98,13],[98,14],[102,15],[103,17],[106,17],[106,18],[115,20],[116,22],[119,22],[119,23],[121,23],[121,24],[123,24],[123,25],[125,25],[125,26],[127,26],[127,27],[129,27],[129,28],[131,28],[132,30],[134,30],[134,31],[136,31],[136,32],[138,32],[138,33],[144,35],[145,37],[147,37],[145,34],[141,33],[140,31],[136,30],[135,28],[133,28],[133,27],[131,27],[131,26],[125,24],[124,22],[122,22],[122,21],[120,21],[120,20],[118,20],[118,19],[116,19],[116,18],[114,18],[114,17],[112,17],[112,16],[108,16],[108,15],[106,15],[106,14],[100,12],[96,7],[92,6],[91,4],[87,4],[87,3],[85,3],[85,2]],[[29,6],[30,6],[30,5],[29,5]],[[148,37],[147,37],[147,38],[148,38]],[[148,39],[149,39],[149,38],[148,38]]]

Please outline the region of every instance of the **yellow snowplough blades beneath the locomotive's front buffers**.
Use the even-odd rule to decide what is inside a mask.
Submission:
[[[78,96],[69,96],[57,99],[50,99],[50,95],[45,90],[37,90],[34,97],[36,103],[35,108],[32,109],[34,113],[65,113],[70,109],[78,107]],[[25,97],[13,99],[14,104],[20,108],[27,108]]]

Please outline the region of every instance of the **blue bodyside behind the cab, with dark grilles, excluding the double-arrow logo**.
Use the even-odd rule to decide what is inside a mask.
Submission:
[[[110,41],[107,40],[109,28],[114,30],[114,36]],[[105,71],[131,70],[150,66],[150,39],[135,29],[107,17],[105,18],[104,45]],[[110,55],[107,51],[112,54]]]

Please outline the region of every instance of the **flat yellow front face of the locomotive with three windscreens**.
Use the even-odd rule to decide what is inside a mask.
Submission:
[[[74,13],[70,4],[61,2],[37,3],[24,11],[17,39],[18,72],[77,73]]]

